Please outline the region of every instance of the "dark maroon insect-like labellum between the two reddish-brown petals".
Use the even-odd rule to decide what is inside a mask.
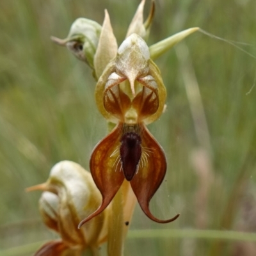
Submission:
[[[141,138],[136,132],[126,132],[121,140],[120,157],[124,177],[131,181],[141,159]]]

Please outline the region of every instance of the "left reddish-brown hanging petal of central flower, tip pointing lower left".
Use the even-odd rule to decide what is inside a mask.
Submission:
[[[120,136],[122,124],[100,141],[92,152],[90,170],[93,180],[102,195],[102,204],[90,216],[79,224],[79,228],[93,217],[104,211],[124,181],[124,173],[121,171],[119,159]],[[116,152],[116,154],[115,154]]]

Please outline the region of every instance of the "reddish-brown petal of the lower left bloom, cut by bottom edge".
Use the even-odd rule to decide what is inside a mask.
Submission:
[[[50,241],[45,243],[34,256],[64,256],[70,250],[62,241]]]

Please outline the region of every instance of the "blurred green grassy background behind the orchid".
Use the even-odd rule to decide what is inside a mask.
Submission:
[[[77,17],[102,24],[107,8],[120,44],[139,3],[1,0],[0,255],[31,255],[29,248],[15,254],[9,249],[55,236],[40,221],[40,192],[24,189],[44,182],[64,159],[88,170],[90,153],[106,134],[90,68],[50,36],[65,38]],[[239,47],[256,56],[255,13],[255,0],[156,0],[148,45],[199,26],[249,43]],[[186,232],[168,237],[172,229],[186,228],[219,230],[220,237],[222,230],[256,232],[255,58],[198,32],[156,63],[168,91],[167,109],[149,129],[166,152],[168,173],[151,208],[159,218],[180,217],[160,225],[137,207],[131,230],[162,229],[166,237],[130,237],[125,255],[256,255],[255,240]]]

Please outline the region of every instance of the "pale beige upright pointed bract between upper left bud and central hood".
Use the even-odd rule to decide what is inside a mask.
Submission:
[[[100,77],[109,61],[115,58],[117,47],[109,14],[108,11],[105,10],[105,19],[102,25],[97,51],[94,56],[94,68],[97,78]]]

